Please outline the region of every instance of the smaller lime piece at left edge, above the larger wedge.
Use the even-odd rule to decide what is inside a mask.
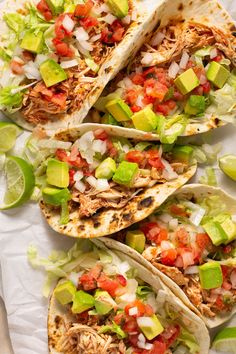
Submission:
[[[0,152],[11,150],[21,132],[16,124],[0,122]]]

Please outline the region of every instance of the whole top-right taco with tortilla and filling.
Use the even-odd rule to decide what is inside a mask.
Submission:
[[[87,120],[163,143],[235,122],[233,20],[216,1],[170,0],[158,13],[158,30],[109,83]]]

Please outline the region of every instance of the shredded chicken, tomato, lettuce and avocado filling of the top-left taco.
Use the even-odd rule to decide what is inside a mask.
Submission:
[[[26,2],[5,13],[0,107],[37,125],[79,110],[132,23],[123,0]]]

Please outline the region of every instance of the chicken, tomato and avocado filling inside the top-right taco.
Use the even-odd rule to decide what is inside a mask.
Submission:
[[[181,22],[158,30],[110,83],[107,95],[98,99],[100,123],[156,133],[162,142],[172,143],[185,132],[197,133],[188,129],[191,123],[214,126],[215,118],[233,117],[235,44],[231,33],[199,23]],[[110,109],[114,100],[122,100],[128,117]],[[151,119],[147,107],[156,115],[151,125],[144,123]]]

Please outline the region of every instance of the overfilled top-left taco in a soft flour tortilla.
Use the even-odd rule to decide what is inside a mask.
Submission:
[[[80,123],[156,22],[147,0],[6,0],[0,108],[26,129]],[[139,41],[137,41],[139,39]]]

